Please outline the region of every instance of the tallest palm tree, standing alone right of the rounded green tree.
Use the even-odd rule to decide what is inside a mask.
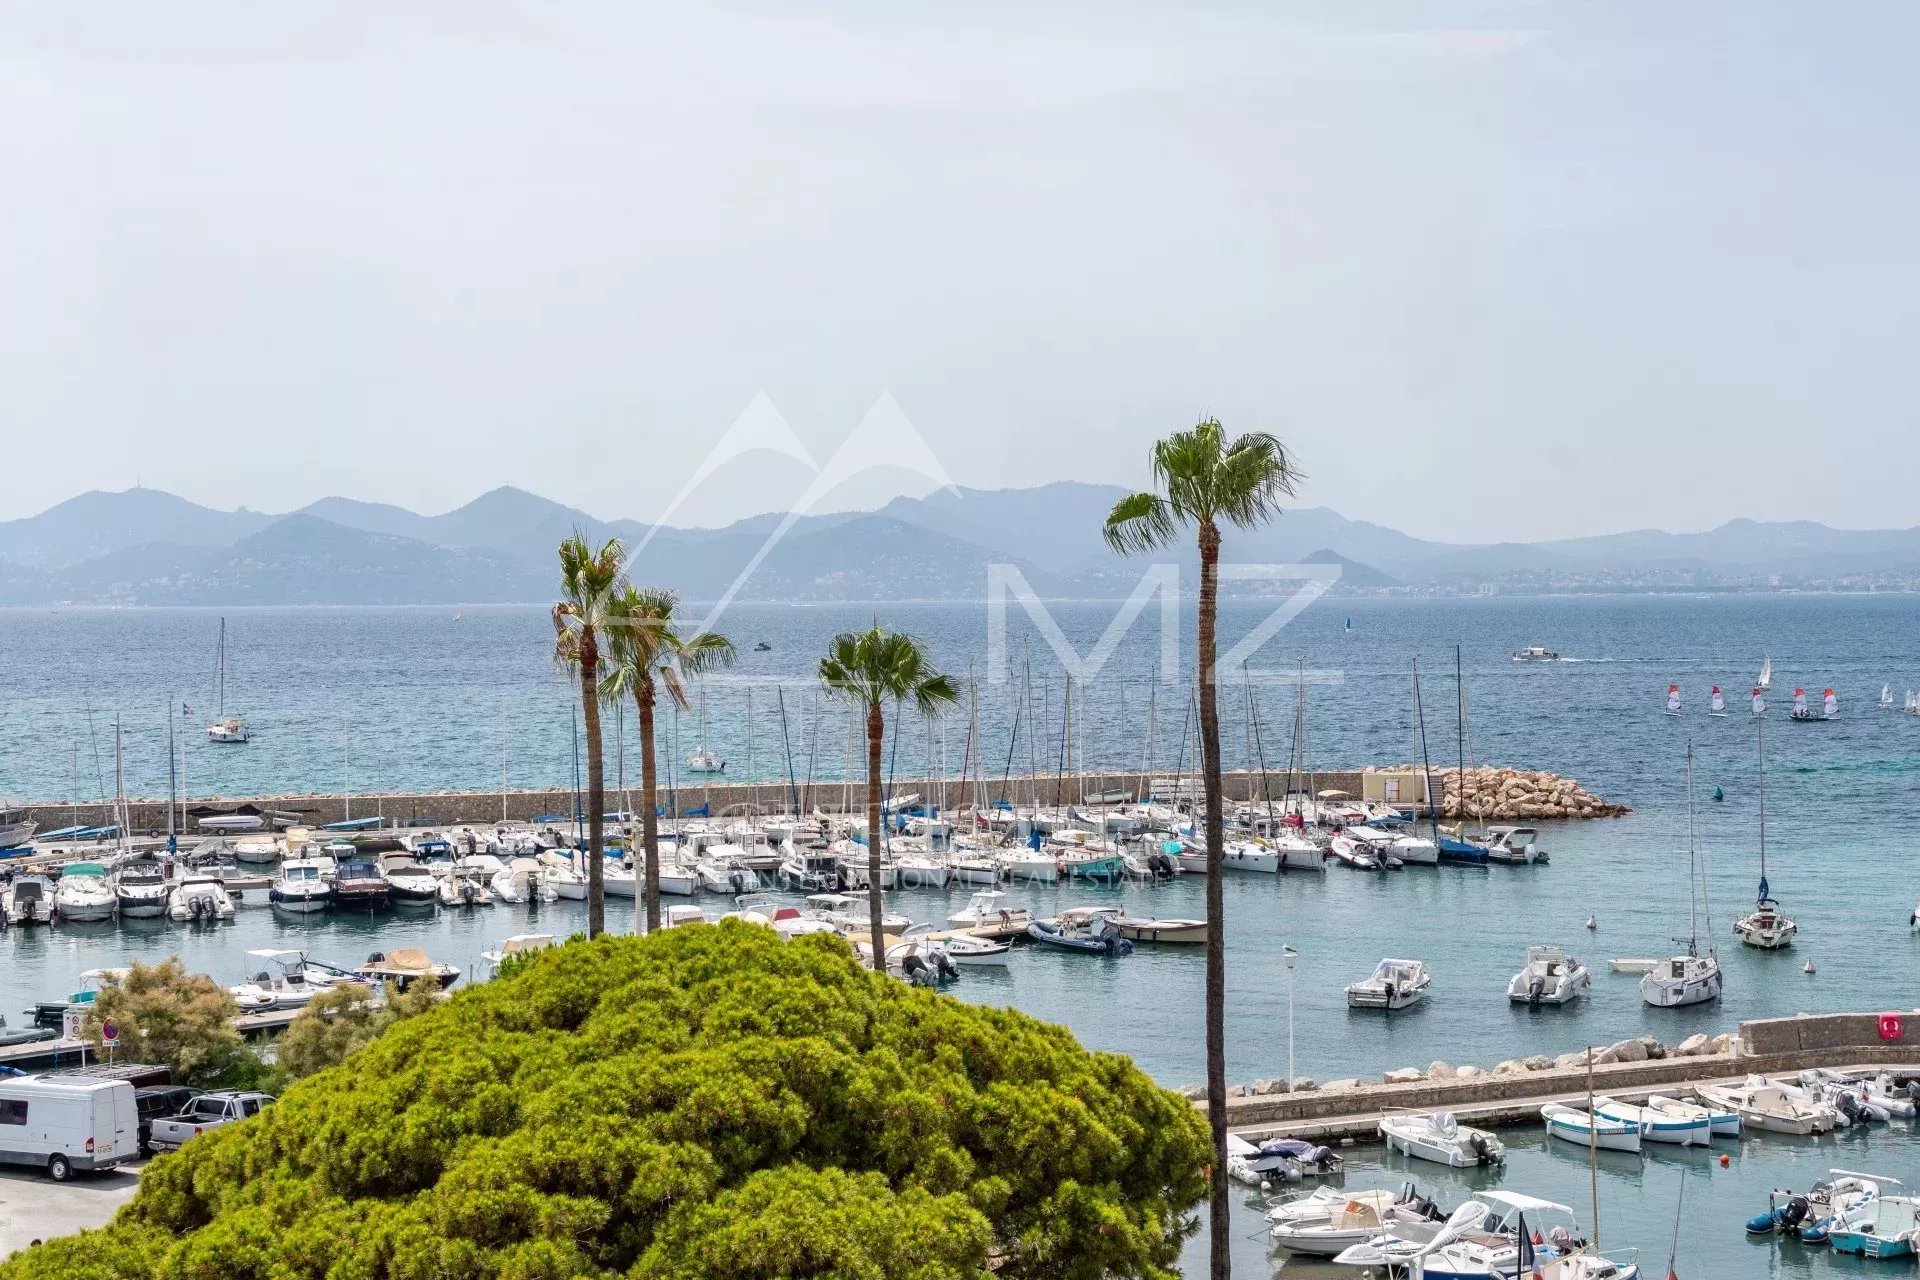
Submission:
[[[1173,432],[1154,445],[1158,491],[1129,493],[1106,516],[1106,541],[1131,555],[1167,547],[1187,526],[1200,537],[1200,741],[1206,775],[1206,1111],[1213,1126],[1213,1196],[1210,1207],[1212,1274],[1229,1280],[1227,1238],[1227,929],[1219,860],[1219,704],[1213,689],[1213,614],[1219,604],[1219,526],[1250,530],[1281,512],[1300,470],[1286,447],[1254,432],[1227,439],[1213,418]]]

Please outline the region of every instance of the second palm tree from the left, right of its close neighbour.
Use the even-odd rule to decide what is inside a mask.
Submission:
[[[647,933],[660,927],[660,818],[655,800],[659,771],[653,754],[653,708],[659,691],[687,706],[684,676],[699,676],[733,664],[733,641],[716,633],[682,635],[674,628],[674,608],[680,597],[664,587],[624,587],[612,603],[607,631],[611,666],[601,681],[601,695],[611,699],[634,695],[639,710],[639,789],[645,806],[639,812],[641,842],[647,858],[647,885],[641,902],[634,904],[634,931],[639,931],[645,912]]]

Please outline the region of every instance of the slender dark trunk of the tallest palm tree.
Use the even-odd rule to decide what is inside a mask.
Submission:
[[[1213,1128],[1208,1244],[1212,1280],[1233,1280],[1227,1234],[1227,904],[1221,894],[1219,702],[1213,697],[1213,614],[1219,604],[1219,528],[1200,524],[1200,748],[1206,777],[1206,1119]]]

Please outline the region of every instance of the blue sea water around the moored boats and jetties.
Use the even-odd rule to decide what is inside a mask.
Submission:
[[[1432,1061],[1492,1067],[1636,1034],[1678,1042],[1749,1017],[1920,1004],[1920,877],[1908,862],[1920,716],[1899,710],[1907,689],[1920,687],[1920,597],[1321,599],[1273,628],[1275,604],[1223,604],[1221,651],[1246,637],[1261,643],[1223,668],[1219,695],[1225,762],[1265,770],[1275,794],[1302,756],[1317,770],[1442,768],[1465,756],[1553,770],[1632,812],[1546,823],[1546,865],[1229,877],[1229,1080],[1377,1077]],[[227,610],[225,708],[253,729],[246,747],[211,745],[204,731],[221,699],[221,616],[0,610],[0,794],[111,794],[115,725],[129,794],[163,796],[184,771],[184,793],[198,798],[349,787],[365,796],[361,812],[378,804],[376,793],[495,789],[503,777],[511,787],[574,785],[578,699],[553,666],[540,608]],[[666,718],[662,752],[684,760],[705,741],[728,760],[730,779],[812,785],[831,806],[849,764],[858,768],[856,722],[820,693],[816,668],[835,633],[876,620],[918,635],[962,695],[931,723],[912,708],[889,718],[895,791],[927,791],[929,773],[966,773],[987,794],[1020,798],[1021,783],[1008,775],[1192,768],[1190,604],[1167,628],[1152,603],[1131,628],[1116,626],[1106,603],[1014,603],[1004,618],[979,603],[735,604],[716,628],[739,660],[695,685],[687,712]],[[1515,662],[1528,645],[1561,660]],[[1749,693],[1768,658],[1768,710],[1755,718]],[[1678,716],[1667,714],[1668,685],[1682,693]],[[1707,714],[1713,685],[1726,716]],[[1814,706],[1834,689],[1839,718],[1793,723],[1795,687]],[[1882,687],[1891,710],[1878,706]],[[609,737],[611,785],[637,783],[632,718],[611,720]],[[1761,881],[1763,750],[1764,873],[1801,929],[1778,954],[1732,936]],[[676,785],[682,802],[695,798],[697,781]],[[1690,865],[1703,867],[1703,894],[1688,890]],[[1160,889],[1020,887],[1016,896],[1041,912],[1110,900],[1137,913],[1202,915],[1198,877]],[[939,890],[900,890],[895,902],[916,921],[958,906],[958,894]],[[632,927],[624,902],[611,915]],[[252,946],[301,946],[346,963],[419,944],[470,973],[505,935],[580,923],[576,904],[376,921],[288,921],[244,908],[221,927],[15,931],[0,938],[0,990],[6,1009],[19,1009],[71,990],[84,969],[167,954],[240,981]],[[1690,936],[1724,963],[1726,994],[1713,1006],[1653,1009],[1634,977],[1607,971],[1609,958],[1667,956]],[[1536,942],[1588,961],[1588,1000],[1557,1009],[1507,1002],[1505,983]],[[1283,948],[1298,954],[1292,969]],[[1344,986],[1384,956],[1425,960],[1432,998],[1390,1017],[1350,1011]],[[1142,946],[1121,960],[1021,950],[1004,973],[970,971],[950,990],[1064,1023],[1164,1084],[1202,1077],[1198,948]],[[1515,1146],[1505,1184],[1563,1199],[1586,1222],[1586,1151],[1524,1134]],[[1603,1238],[1647,1247],[1657,1255],[1644,1259],[1647,1272],[1665,1274],[1686,1182],[1678,1274],[1814,1274],[1841,1259],[1743,1240],[1740,1224],[1764,1207],[1768,1186],[1803,1186],[1830,1165],[1920,1178],[1910,1132],[1722,1146],[1728,1169],[1699,1153],[1605,1157]],[[1473,1190],[1467,1174],[1375,1169],[1380,1159],[1356,1148],[1348,1184],[1413,1176],[1448,1201]],[[1267,1255],[1254,1203],[1236,1209],[1235,1230],[1236,1274],[1317,1274]],[[1188,1255],[1192,1274],[1202,1247]]]

